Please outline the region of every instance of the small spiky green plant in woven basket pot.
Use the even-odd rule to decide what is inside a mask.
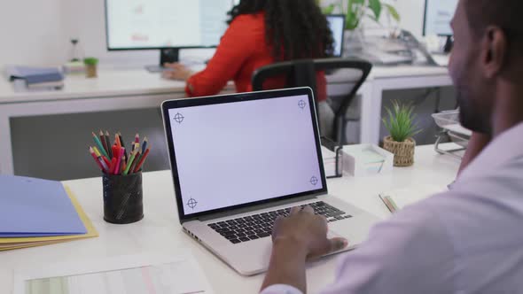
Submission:
[[[386,108],[386,112],[388,117],[383,119],[383,124],[390,135],[383,139],[383,149],[394,154],[394,166],[412,166],[416,147],[412,136],[421,132],[414,122],[414,107],[393,101],[392,110]]]

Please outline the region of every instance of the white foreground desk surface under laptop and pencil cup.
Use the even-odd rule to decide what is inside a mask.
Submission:
[[[448,146],[450,147],[450,146]],[[412,184],[448,184],[457,174],[459,162],[433,151],[433,145],[418,147],[412,167],[394,168],[393,174],[366,178],[343,177],[328,181],[332,195],[386,218],[390,215],[379,200],[383,190]],[[177,219],[175,193],[169,171],[144,174],[144,220],[129,225],[103,221],[102,180],[92,178],[65,182],[78,197],[100,236],[82,241],[18,251],[0,252],[0,293],[12,289],[12,268],[137,254],[141,251],[172,251],[190,248],[203,268],[215,293],[256,293],[263,275],[243,277],[186,236]],[[334,278],[340,255],[322,259],[308,267],[308,290],[316,293]]]

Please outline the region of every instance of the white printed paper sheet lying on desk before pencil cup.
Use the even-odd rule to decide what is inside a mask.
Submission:
[[[191,251],[145,253],[17,269],[13,294],[212,293]]]

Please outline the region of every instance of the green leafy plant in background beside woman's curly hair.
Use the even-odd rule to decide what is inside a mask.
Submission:
[[[320,4],[321,0],[317,0]],[[379,23],[379,19],[384,12],[399,22],[400,13],[391,4],[386,4],[382,0],[340,0],[337,4],[329,4],[323,8],[325,14],[331,14],[338,8],[340,12],[346,14],[345,28],[355,30],[359,27],[362,19],[367,17]]]

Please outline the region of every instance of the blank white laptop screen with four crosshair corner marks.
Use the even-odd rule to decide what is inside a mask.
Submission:
[[[323,189],[308,96],[168,110],[183,213]]]

